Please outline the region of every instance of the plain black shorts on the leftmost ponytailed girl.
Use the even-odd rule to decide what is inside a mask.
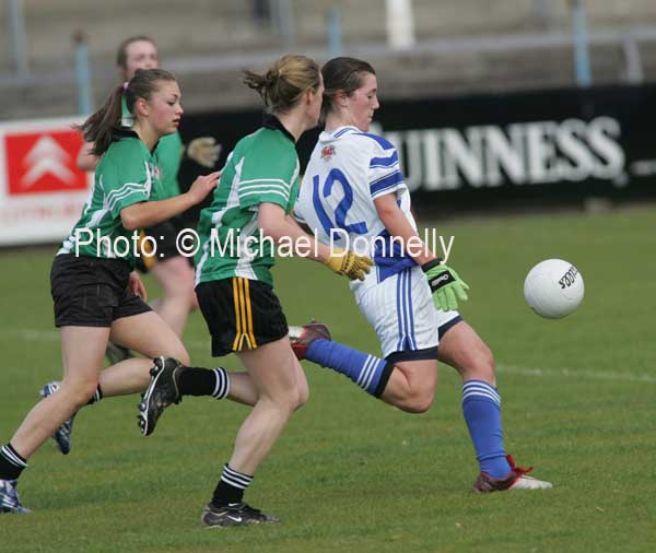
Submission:
[[[110,327],[121,317],[150,311],[128,290],[130,266],[121,259],[57,256],[50,269],[50,294],[57,327]]]

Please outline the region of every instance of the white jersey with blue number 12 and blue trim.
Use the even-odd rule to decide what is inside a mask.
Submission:
[[[321,132],[305,170],[294,216],[324,244],[368,255],[375,263],[364,285],[376,284],[414,266],[399,240],[393,240],[374,200],[394,193],[417,230],[410,193],[396,148],[383,137],[340,127]],[[355,281],[352,289],[360,287]]]

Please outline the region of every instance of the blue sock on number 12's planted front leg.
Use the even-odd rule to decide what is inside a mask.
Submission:
[[[462,414],[476,449],[481,472],[503,478],[511,471],[503,447],[501,397],[484,380],[467,380],[462,385]]]

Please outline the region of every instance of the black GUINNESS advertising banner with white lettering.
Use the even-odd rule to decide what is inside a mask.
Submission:
[[[371,131],[397,146],[418,209],[522,209],[656,197],[655,113],[655,85],[383,98]],[[221,164],[260,122],[257,110],[198,114],[183,132],[214,136]],[[317,136],[298,142],[303,167]],[[199,167],[184,169],[188,187]]]

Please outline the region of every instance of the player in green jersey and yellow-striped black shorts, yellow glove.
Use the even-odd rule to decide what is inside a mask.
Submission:
[[[212,355],[236,353],[254,391],[247,401],[253,410],[202,513],[202,522],[210,527],[278,521],[244,503],[244,492],[292,413],[308,398],[307,380],[273,292],[273,249],[292,244],[298,254],[350,279],[364,279],[371,264],[368,258],[316,243],[290,216],[298,189],[295,143],[317,125],[321,108],[324,85],[316,62],[283,56],[266,74],[246,72],[245,83],[259,92],[268,114],[263,126],[239,140],[230,154],[198,228],[196,292],[212,338]],[[192,378],[195,374],[198,378]],[[201,369],[175,360],[157,362],[140,405],[142,432],[150,434],[162,410],[183,396],[213,395],[216,380],[202,385],[200,376]],[[185,384],[192,380],[198,384]],[[230,386],[234,384],[232,373]]]

